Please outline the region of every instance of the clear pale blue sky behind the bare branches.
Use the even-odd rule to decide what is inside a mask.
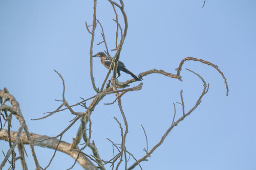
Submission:
[[[229,85],[227,97],[218,71],[194,61],[185,62],[183,82],[156,74],[144,77],[142,90],[122,97],[129,123],[127,150],[137,159],[145,154],[141,124],[149,149],[160,140],[172,124],[173,102],[180,102],[181,89],[185,110],[193,107],[203,86],[200,79],[185,70],[189,68],[210,84],[209,91],[148,161],[141,163],[143,169],[256,169],[256,2],[206,0],[204,8],[203,0],[124,3],[129,28],[120,60],[128,69],[137,75],[153,68],[175,74],[179,62],[190,56],[218,65]],[[62,84],[53,69],[66,81],[69,103],[95,95],[90,80],[91,35],[84,24],[92,22],[92,7],[93,1],[0,1],[0,89],[7,87],[15,96],[32,133],[55,136],[74,117],[62,112],[47,119],[31,120],[59,105],[54,99],[61,99]],[[98,1],[97,18],[110,49],[115,47],[114,17],[111,5]],[[97,27],[94,53],[104,50],[103,44],[96,45],[100,41]],[[99,58],[94,58],[93,64],[99,87],[107,69]],[[118,80],[130,78],[123,73]],[[120,143],[119,127],[113,118],[116,116],[122,122],[117,103],[103,105],[114,99],[114,94],[106,96],[92,114],[92,139],[103,159],[112,158],[112,146],[106,138]],[[176,106],[177,116],[181,115],[181,106]],[[76,109],[83,111],[80,107]],[[17,129],[16,120],[12,126]],[[72,142],[78,126],[79,122],[62,140]],[[8,142],[0,141],[0,146],[1,151],[7,152]],[[29,169],[34,169],[30,150],[26,149]],[[54,152],[40,147],[35,147],[35,151],[42,167]],[[0,160],[3,158],[0,154]],[[67,169],[73,162],[57,152],[49,169]],[[81,167],[76,164],[73,169]]]

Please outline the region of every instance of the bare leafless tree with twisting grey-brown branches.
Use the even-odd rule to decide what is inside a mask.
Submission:
[[[106,43],[106,40],[105,40],[103,27],[102,27],[100,21],[96,18],[96,11],[97,11],[97,8],[96,8],[97,1],[96,0],[94,0],[92,25],[88,25],[88,23],[86,22],[86,28],[87,28],[89,34],[91,34],[90,75],[91,75],[91,82],[93,85],[93,89],[95,90],[96,94],[94,96],[91,96],[88,99],[81,99],[81,101],[79,101],[78,103],[70,104],[65,98],[65,80],[63,79],[63,77],[61,76],[61,74],[58,71],[54,70],[56,72],[56,74],[58,74],[60,79],[62,80],[62,86],[63,86],[62,100],[56,100],[56,101],[61,102],[61,104],[57,107],[56,110],[54,110],[52,112],[48,112],[48,114],[46,116],[33,119],[34,121],[36,121],[38,119],[47,118],[57,112],[69,110],[70,113],[75,115],[76,117],[71,121],[70,125],[67,126],[66,129],[64,129],[61,133],[57,134],[54,137],[30,133],[28,130],[28,127],[26,125],[25,119],[23,118],[22,111],[19,108],[19,104],[16,101],[16,99],[14,98],[14,96],[9,93],[7,88],[5,88],[4,90],[0,90],[0,102],[1,102],[0,111],[2,111],[2,112],[0,112],[0,120],[1,120],[0,139],[8,141],[9,146],[10,146],[10,149],[7,151],[7,153],[4,153],[5,158],[0,165],[0,169],[2,169],[5,166],[7,161],[10,162],[10,164],[11,164],[10,167],[12,169],[14,169],[15,161],[17,159],[20,159],[20,161],[22,162],[23,169],[28,169],[26,160],[25,160],[26,151],[24,149],[24,144],[30,145],[30,149],[31,149],[31,152],[32,152],[32,155],[34,158],[34,163],[35,163],[36,169],[47,169],[50,166],[50,164],[55,156],[55,153],[57,151],[66,153],[66,154],[70,155],[73,159],[75,159],[74,164],[69,169],[72,169],[73,166],[76,164],[76,162],[79,163],[84,169],[105,169],[106,164],[110,164],[112,169],[114,169],[114,168],[118,169],[120,167],[120,164],[124,164],[125,169],[133,169],[136,166],[139,166],[142,169],[140,162],[147,160],[147,158],[150,157],[150,155],[163,143],[163,141],[165,140],[166,136],[170,133],[170,131],[172,131],[172,129],[175,126],[177,126],[185,117],[187,117],[190,113],[192,113],[201,103],[203,96],[208,91],[209,84],[207,84],[205,82],[205,80],[199,74],[197,74],[193,70],[187,69],[192,74],[196,75],[199,78],[198,80],[202,81],[202,85],[203,85],[202,93],[200,96],[198,96],[198,100],[196,101],[195,105],[192,108],[190,108],[189,111],[185,112],[183,91],[181,90],[180,91],[181,102],[177,102],[177,104],[182,106],[182,114],[180,117],[176,116],[177,115],[176,114],[176,105],[175,105],[175,103],[173,103],[174,116],[172,119],[172,123],[170,123],[170,126],[168,127],[168,129],[166,129],[165,132],[162,132],[163,135],[159,139],[159,142],[156,143],[154,145],[154,147],[148,148],[147,135],[144,130],[144,127],[141,125],[141,127],[144,131],[145,138],[146,138],[146,147],[144,148],[144,152],[145,152],[144,156],[142,156],[141,158],[136,158],[135,155],[132,154],[132,151],[128,151],[126,149],[126,147],[125,147],[126,136],[129,131],[128,131],[128,122],[126,120],[125,113],[123,111],[122,104],[121,104],[121,97],[122,97],[122,95],[124,95],[127,92],[141,90],[143,83],[140,83],[139,85],[134,86],[134,87],[126,88],[126,87],[130,86],[130,84],[135,82],[136,80],[130,79],[125,82],[119,82],[116,80],[118,61],[120,58],[123,42],[124,42],[126,34],[127,34],[128,20],[126,17],[126,13],[124,10],[124,3],[122,0],[119,0],[119,3],[114,2],[112,0],[108,0],[108,1],[112,5],[113,12],[115,13],[115,16],[116,16],[116,18],[113,19],[113,21],[116,25],[115,45],[114,45],[115,47],[113,50],[111,50],[111,51],[115,51],[115,55],[113,56],[113,58],[111,58],[111,56],[109,54],[108,44]],[[119,18],[117,10],[119,10],[121,12],[121,14],[122,14],[121,18]],[[123,23],[124,23],[123,26],[119,22],[120,19],[123,20]],[[100,88],[96,87],[96,85],[94,83],[94,77],[93,77],[93,45],[94,45],[96,26],[99,26],[101,28],[100,35],[102,36],[102,42],[99,42],[98,44],[104,43],[105,53],[110,57],[110,59],[112,61],[110,68],[109,68]],[[211,67],[214,67],[219,72],[219,74],[223,77],[224,83],[226,85],[226,90],[227,90],[226,95],[228,95],[228,85],[226,82],[226,78],[224,77],[223,73],[218,68],[218,66],[215,64],[212,64],[211,62],[208,62],[208,61],[205,61],[202,59],[193,58],[193,57],[187,57],[187,58],[184,58],[183,60],[181,60],[180,64],[178,65],[178,67],[176,69],[175,74],[172,74],[170,72],[165,72],[164,70],[151,69],[151,70],[141,72],[139,74],[139,77],[142,79],[144,76],[147,76],[150,74],[161,74],[166,77],[169,77],[172,79],[178,79],[178,80],[182,81],[182,77],[180,76],[180,73],[182,71],[182,66],[185,61],[189,61],[189,60],[201,62],[203,64],[207,64]],[[112,69],[113,69],[113,75],[110,78]],[[112,145],[113,145],[113,152],[114,153],[117,152],[117,154],[114,155],[113,158],[110,160],[103,160],[99,155],[99,152],[98,152],[95,142],[92,140],[92,130],[93,129],[92,129],[92,121],[91,121],[90,117],[91,117],[95,107],[104,98],[104,96],[106,96],[108,94],[115,94],[116,99],[112,103],[108,103],[107,105],[114,104],[115,102],[118,103],[118,107],[120,110],[120,114],[122,116],[122,121],[124,123],[124,126],[122,126],[122,124],[120,123],[120,120],[118,120],[116,117],[114,117],[116,120],[116,123],[120,127],[121,143],[117,144],[108,138],[108,141],[110,143],[112,143]],[[92,101],[91,101],[90,105],[87,106],[86,102],[90,101],[90,100],[92,100]],[[10,103],[10,105],[7,104],[7,101]],[[75,111],[73,109],[75,106],[83,107],[84,111],[83,112]],[[15,116],[16,119],[19,120],[19,123],[20,123],[18,131],[11,131],[11,121],[12,121],[13,115]],[[73,142],[67,143],[65,141],[62,141],[61,140],[62,135],[65,134],[65,132],[67,130],[69,130],[77,122],[77,120],[80,120],[81,123],[80,123],[79,128],[77,129],[76,136],[74,136],[74,138],[73,138]],[[7,129],[3,129],[2,127],[5,126],[6,123],[7,123]],[[73,137],[73,136],[70,136],[70,137]],[[81,141],[81,139],[83,141]],[[79,143],[83,143],[82,147],[78,147]],[[41,167],[39,165],[37,158],[36,158],[36,153],[34,152],[34,148],[33,148],[34,145],[38,145],[40,147],[46,147],[46,148],[55,150],[49,164],[46,167]],[[16,153],[14,152],[15,147],[19,151],[19,156],[17,156]],[[91,149],[93,155],[89,155],[89,154],[83,152],[83,150],[86,147]],[[110,154],[112,154],[112,153],[110,153]],[[132,164],[129,163],[129,165],[128,165],[127,161],[129,160],[130,157],[133,158],[134,161]]]

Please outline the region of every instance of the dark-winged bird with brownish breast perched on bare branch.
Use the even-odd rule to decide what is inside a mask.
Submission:
[[[93,57],[99,57],[100,58],[100,62],[106,67],[106,68],[110,68],[111,62],[112,62],[112,58],[106,56],[105,53],[103,52],[98,52],[97,54],[95,54]],[[112,67],[113,70],[113,67]],[[133,74],[133,72],[131,72],[130,70],[128,70],[127,68],[125,68],[125,65],[123,64],[123,62],[118,61],[117,63],[117,74],[118,77],[121,75],[120,74],[120,70],[123,72],[126,72],[126,74],[130,74],[136,81],[141,81],[142,78],[139,78],[138,76],[136,76],[135,74]],[[117,77],[117,78],[118,78]]]

